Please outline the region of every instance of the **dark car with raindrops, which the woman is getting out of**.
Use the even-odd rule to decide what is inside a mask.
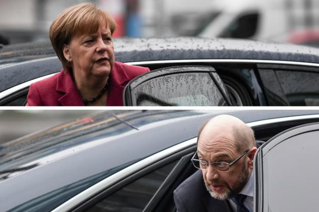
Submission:
[[[236,39],[118,38],[117,61],[148,66],[125,105],[319,105],[319,50]],[[176,67],[177,66],[177,67]],[[24,105],[29,85],[59,72],[49,43],[0,49],[0,105]]]

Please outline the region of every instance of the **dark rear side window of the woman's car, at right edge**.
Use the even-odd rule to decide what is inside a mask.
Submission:
[[[319,73],[277,70],[290,106],[319,106]]]

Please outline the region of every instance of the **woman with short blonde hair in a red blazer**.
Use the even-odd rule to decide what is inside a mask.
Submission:
[[[123,89],[149,68],[115,62],[113,18],[94,4],[67,8],[49,35],[58,74],[30,85],[27,106],[123,106]]]

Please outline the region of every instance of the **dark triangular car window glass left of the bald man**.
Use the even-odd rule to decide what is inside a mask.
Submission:
[[[143,211],[176,163],[177,160],[125,185],[86,211]]]

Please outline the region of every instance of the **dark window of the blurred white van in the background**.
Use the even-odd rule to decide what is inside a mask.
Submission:
[[[259,14],[245,14],[233,21],[220,37],[249,38],[256,34]]]

